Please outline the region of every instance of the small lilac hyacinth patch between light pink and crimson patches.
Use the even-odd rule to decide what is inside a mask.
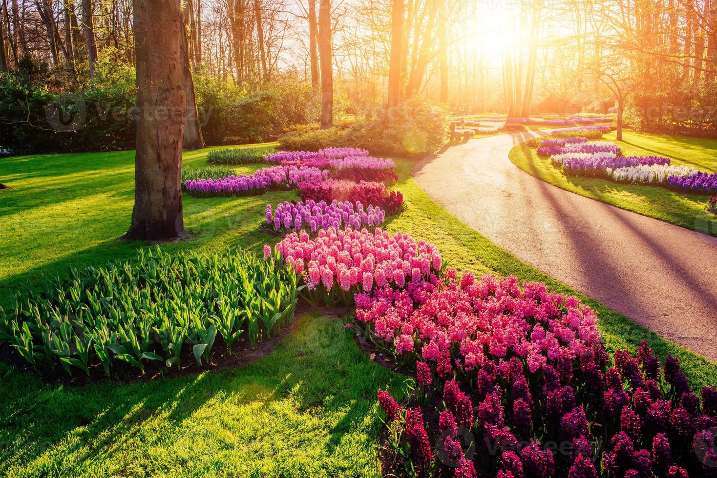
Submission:
[[[364,205],[360,201],[316,203],[308,200],[306,203],[279,203],[273,213],[271,205],[267,204],[266,225],[268,229],[278,234],[287,234],[296,230],[308,230],[311,234],[315,234],[321,229],[342,227],[374,230],[384,222],[385,216],[384,210],[371,205],[364,210]]]

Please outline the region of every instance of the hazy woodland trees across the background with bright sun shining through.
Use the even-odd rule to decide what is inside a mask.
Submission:
[[[617,112],[619,98],[599,74],[610,59],[625,60],[630,77],[649,64],[650,76],[637,79],[624,104],[632,124],[717,132],[716,0],[342,0],[325,9],[328,36],[320,0],[182,4],[198,124],[209,143],[275,137],[320,122],[322,109],[326,126],[329,107],[336,117],[370,115],[409,99],[445,102],[456,113]],[[134,81],[118,82],[123,69],[133,72],[132,9],[131,0],[0,0],[0,69],[29,72],[37,97],[79,93],[105,107],[123,103],[114,85]],[[0,111],[0,121],[27,123],[42,136],[47,121],[32,97],[14,115]],[[132,147],[133,126],[110,134],[110,122],[95,115],[86,127],[100,124],[100,145]],[[67,142],[61,149],[96,147],[73,134],[54,141]]]

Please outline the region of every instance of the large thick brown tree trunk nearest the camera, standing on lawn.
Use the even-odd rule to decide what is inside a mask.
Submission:
[[[171,240],[184,233],[181,144],[186,94],[180,0],[135,0],[134,34],[135,206],[125,238]]]

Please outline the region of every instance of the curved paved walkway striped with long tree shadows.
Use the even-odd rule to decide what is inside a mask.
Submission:
[[[717,238],[562,190],[508,159],[547,133],[447,148],[419,162],[414,180],[526,263],[717,361]]]

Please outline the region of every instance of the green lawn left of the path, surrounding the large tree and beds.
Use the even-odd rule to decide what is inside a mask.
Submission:
[[[204,162],[206,150],[185,155]],[[546,281],[574,293],[490,243],[440,208],[397,160],[407,210],[387,225],[438,245],[457,268]],[[252,170],[255,167],[245,167]],[[132,258],[141,243],[115,240],[128,226],[133,153],[19,157],[0,160],[4,228],[0,304],[39,273],[65,273]],[[189,240],[170,250],[273,242],[257,231],[267,203],[291,197],[195,199],[184,196]],[[717,366],[625,317],[581,297],[599,313],[607,348],[680,358],[693,386],[714,384]],[[9,476],[379,476],[381,429],[376,389],[402,396],[404,377],[371,363],[343,328],[348,317],[303,317],[298,330],[251,366],[151,383],[49,386],[0,364],[0,474]]]

